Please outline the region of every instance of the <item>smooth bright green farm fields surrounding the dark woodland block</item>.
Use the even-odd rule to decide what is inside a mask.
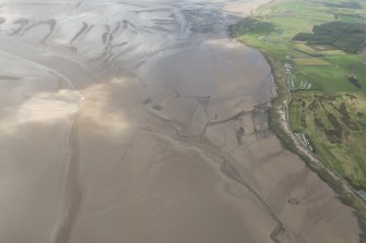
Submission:
[[[335,3],[337,1],[331,2]],[[358,3],[366,8],[365,0]],[[342,4],[342,1],[339,1],[339,4]],[[334,14],[342,13],[364,16],[366,9],[324,7],[305,0],[283,0],[259,9],[255,16],[232,26],[231,32],[240,41],[271,54],[279,61],[292,63],[297,73],[308,76],[307,82],[311,82],[322,90],[364,92],[366,90],[365,52],[351,54],[329,45],[308,46],[304,41],[293,40],[299,33],[312,33],[315,25],[339,21]],[[359,22],[357,24],[365,24],[366,27],[366,16],[358,17],[357,21]],[[354,36],[349,37],[350,41],[355,39]],[[316,58],[318,64],[297,66],[296,60],[310,58]],[[349,82],[350,73],[357,76],[361,88]]]

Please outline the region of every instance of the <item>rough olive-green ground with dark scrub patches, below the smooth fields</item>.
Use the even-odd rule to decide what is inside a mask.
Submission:
[[[366,190],[366,99],[359,93],[297,92],[290,124],[354,187]]]

